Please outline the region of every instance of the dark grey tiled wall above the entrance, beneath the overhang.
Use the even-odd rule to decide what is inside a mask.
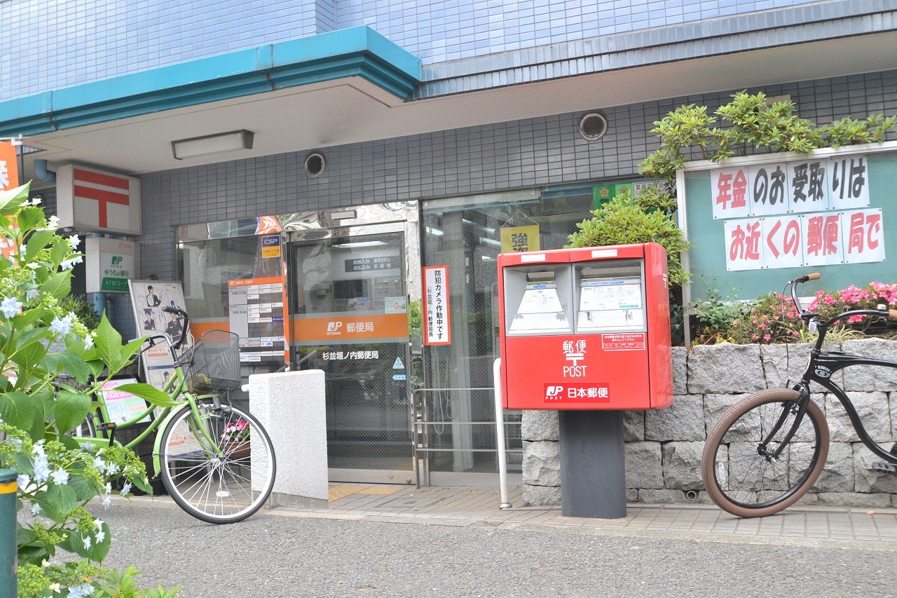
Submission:
[[[818,124],[897,113],[897,70],[762,91],[790,94],[800,116]],[[179,224],[628,176],[657,147],[655,120],[684,103],[712,110],[731,93],[603,109],[610,127],[595,143],[577,132],[581,114],[561,114],[146,174],[141,275],[174,276]],[[310,149],[327,156],[318,179],[302,171]]]

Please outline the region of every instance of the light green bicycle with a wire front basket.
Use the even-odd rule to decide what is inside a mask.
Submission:
[[[225,330],[209,330],[178,356],[190,321],[179,307],[165,307],[184,321],[179,338],[147,337],[143,354],[166,343],[174,375],[161,391],[165,404],[139,435],[127,444],[134,448],[154,435],[152,467],[171,498],[188,514],[208,523],[246,519],[265,504],[274,488],[274,446],[265,428],[248,409],[230,400],[239,388],[239,338]],[[101,439],[112,444],[117,430],[144,422],[156,409],[150,406],[123,422],[111,422],[103,393],[98,406],[75,432],[79,442]],[[99,431],[99,434],[98,434]]]

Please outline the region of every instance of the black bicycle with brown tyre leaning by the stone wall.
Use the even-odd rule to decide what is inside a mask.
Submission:
[[[822,473],[829,453],[829,427],[822,409],[810,399],[810,383],[840,400],[860,440],[884,460],[873,468],[897,472],[897,444],[890,451],[876,444],[847,394],[832,380],[832,374],[850,365],[897,369],[897,362],[823,351],[826,332],[839,321],[851,316],[897,320],[897,310],[879,305],[877,310],[851,310],[820,321],[818,313],[807,312],[797,300],[797,285],[818,278],[819,274],[810,274],[788,283],[800,318],[819,334],[803,377],[791,389],[759,391],[740,400],[707,436],[701,462],[704,486],[719,508],[739,517],[764,517],[795,504]]]

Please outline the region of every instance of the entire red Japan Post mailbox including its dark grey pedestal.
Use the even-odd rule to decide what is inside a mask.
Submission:
[[[623,409],[673,402],[658,243],[498,257],[506,409],[558,409],[562,513],[626,515]]]

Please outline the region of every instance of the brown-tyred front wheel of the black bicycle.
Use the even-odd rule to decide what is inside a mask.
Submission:
[[[795,504],[813,487],[829,453],[829,427],[811,400],[782,446],[794,427],[799,398],[799,392],[786,389],[756,392],[729,408],[710,431],[701,475],[719,508],[739,517],[765,517]]]

